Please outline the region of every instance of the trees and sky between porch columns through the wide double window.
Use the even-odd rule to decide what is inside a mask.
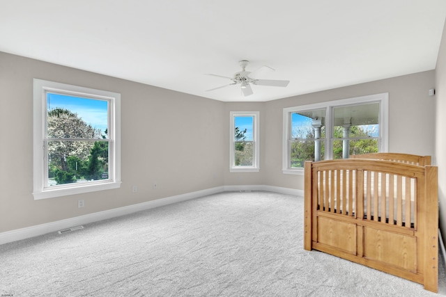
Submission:
[[[333,159],[342,159],[344,127],[335,126],[333,131]],[[350,154],[367,154],[378,152],[378,125],[357,125],[350,127]],[[304,167],[305,161],[315,160],[315,143],[321,144],[321,156],[325,156],[325,125],[321,126],[321,139],[315,139],[312,118],[293,113],[291,124],[291,168]],[[338,138],[338,139],[337,139]],[[339,139],[341,138],[341,139]]]

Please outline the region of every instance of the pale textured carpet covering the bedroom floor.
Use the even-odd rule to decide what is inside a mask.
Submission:
[[[302,221],[302,198],[220,193],[8,243],[0,246],[0,295],[437,296],[303,250]],[[446,296],[445,282],[440,266]]]

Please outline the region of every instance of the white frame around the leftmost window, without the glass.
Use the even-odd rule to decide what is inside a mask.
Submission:
[[[109,179],[49,187],[47,181],[47,92],[109,102]],[[109,190],[121,186],[121,94],[66,83],[33,79],[33,196],[34,200]]]

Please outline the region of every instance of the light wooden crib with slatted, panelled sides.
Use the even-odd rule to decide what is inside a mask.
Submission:
[[[304,248],[437,292],[438,169],[430,163],[394,153],[306,161]]]

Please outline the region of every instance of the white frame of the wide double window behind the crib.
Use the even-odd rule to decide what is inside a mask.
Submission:
[[[348,99],[339,99],[330,102],[321,102],[302,106],[287,107],[283,110],[283,143],[282,143],[282,172],[291,175],[303,175],[303,168],[290,168],[291,152],[289,146],[289,137],[291,133],[291,113],[310,111],[314,109],[325,109],[325,160],[332,159],[333,145],[333,109],[334,107],[350,106],[355,104],[379,103],[379,140],[378,152],[388,152],[389,137],[389,93],[380,93],[353,97]]]

